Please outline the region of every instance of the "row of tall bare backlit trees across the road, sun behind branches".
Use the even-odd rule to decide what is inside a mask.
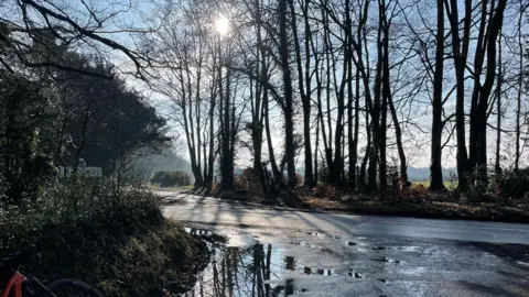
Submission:
[[[204,0],[173,9],[152,40],[162,78],[154,89],[173,102],[196,187],[210,188],[217,161],[222,188],[233,189],[239,152],[252,155],[264,194],[269,168],[292,188],[303,166],[307,187],[384,196],[392,157],[406,183],[427,147],[431,190],[444,190],[447,158],[461,191],[486,186],[493,165],[500,174],[522,164],[525,1]],[[229,30],[216,28],[219,19]]]

